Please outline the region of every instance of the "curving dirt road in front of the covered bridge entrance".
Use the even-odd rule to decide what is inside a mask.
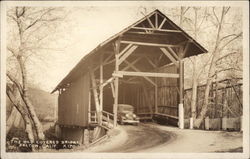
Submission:
[[[180,130],[158,124],[119,126],[102,143],[85,152],[240,152],[242,133]]]

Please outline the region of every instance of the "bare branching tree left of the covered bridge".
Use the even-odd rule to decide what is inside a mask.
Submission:
[[[64,18],[61,11],[62,8],[40,7],[13,7],[7,11],[10,30],[7,39],[6,93],[21,114],[31,142],[43,140],[44,133],[28,95],[29,80],[32,78],[28,64],[42,57],[52,29]]]

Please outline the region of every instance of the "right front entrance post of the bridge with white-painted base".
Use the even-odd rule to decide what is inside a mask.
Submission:
[[[179,86],[180,86],[180,96],[179,96],[179,109],[178,109],[178,116],[179,116],[179,128],[184,129],[184,107],[183,107],[183,92],[184,92],[184,63],[182,60],[179,61]]]

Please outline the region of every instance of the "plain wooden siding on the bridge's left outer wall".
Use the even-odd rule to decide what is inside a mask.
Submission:
[[[88,74],[81,75],[59,94],[58,122],[60,125],[87,126],[89,81]]]

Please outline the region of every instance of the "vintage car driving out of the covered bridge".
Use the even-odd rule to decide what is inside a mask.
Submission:
[[[118,104],[117,120],[121,125],[125,123],[138,125],[139,123],[139,117],[135,115],[134,107],[128,104]]]

